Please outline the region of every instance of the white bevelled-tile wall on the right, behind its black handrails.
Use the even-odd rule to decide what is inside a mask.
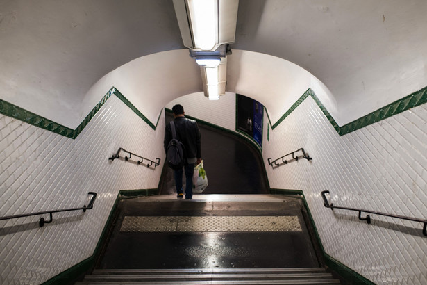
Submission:
[[[303,190],[327,254],[376,284],[427,284],[422,223],[371,215],[367,225],[358,212],[326,209],[320,195],[329,190],[337,206],[427,219],[427,104],[340,137],[308,97],[264,142],[271,188]],[[301,147],[312,161],[267,164]]]

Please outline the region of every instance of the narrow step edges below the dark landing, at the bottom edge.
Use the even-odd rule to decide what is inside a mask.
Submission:
[[[76,285],[96,284],[340,284],[324,268],[201,268],[94,270]]]

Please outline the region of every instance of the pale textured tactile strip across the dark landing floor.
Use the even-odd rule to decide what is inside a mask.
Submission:
[[[251,232],[302,231],[299,219],[286,216],[124,217],[120,231]]]

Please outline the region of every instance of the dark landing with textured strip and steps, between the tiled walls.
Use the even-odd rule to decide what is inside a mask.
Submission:
[[[276,195],[125,199],[97,269],[76,284],[340,284],[301,209]]]

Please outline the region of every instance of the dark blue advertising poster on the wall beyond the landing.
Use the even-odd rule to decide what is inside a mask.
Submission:
[[[237,129],[249,135],[262,147],[264,106],[258,101],[237,95]]]

